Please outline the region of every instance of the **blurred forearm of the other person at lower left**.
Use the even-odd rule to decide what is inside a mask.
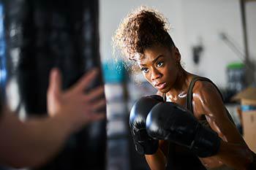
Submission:
[[[26,123],[15,115],[2,118],[0,160],[16,167],[45,163],[60,150],[72,131],[65,117],[45,117]]]

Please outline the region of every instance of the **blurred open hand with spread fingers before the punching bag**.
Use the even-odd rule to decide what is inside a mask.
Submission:
[[[105,117],[105,112],[102,111],[106,105],[105,98],[102,97],[104,87],[99,86],[85,93],[96,76],[97,69],[93,69],[88,74],[84,74],[71,88],[63,91],[59,69],[52,69],[48,87],[49,115],[67,117],[70,123],[78,128]]]

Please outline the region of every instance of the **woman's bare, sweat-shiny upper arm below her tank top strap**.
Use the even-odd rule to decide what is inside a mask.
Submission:
[[[194,112],[205,115],[211,128],[225,142],[244,143],[236,125],[227,117],[225,105],[219,91],[211,82],[196,82],[193,91]]]

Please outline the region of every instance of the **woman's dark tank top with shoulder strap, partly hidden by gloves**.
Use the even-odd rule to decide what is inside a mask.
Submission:
[[[211,80],[205,78],[205,77],[193,77],[192,81],[189,84],[189,90],[187,92],[187,100],[186,100],[186,107],[189,109],[192,114],[193,107],[192,107],[192,90],[195,85],[195,82],[198,80],[200,81],[208,81],[211,82]],[[214,83],[211,82],[213,85]],[[216,88],[217,86],[214,85]],[[219,91],[219,89],[217,88]],[[220,91],[219,91],[220,93]],[[222,96],[222,94],[220,93]],[[164,96],[165,97],[165,96]],[[222,98],[223,99],[223,98]],[[227,111],[227,116],[230,118],[230,120],[233,122],[232,117],[230,116],[229,112]],[[199,122],[202,125],[205,125],[207,127],[210,127],[208,124],[206,117],[203,120],[199,120]],[[233,122],[234,123],[234,122]],[[193,152],[191,152],[186,147],[181,147],[178,144],[174,144],[172,142],[169,143],[169,149],[168,149],[168,158],[167,158],[167,170],[185,170],[185,169],[197,169],[197,170],[207,170],[205,166],[201,163],[197,155],[195,155]]]

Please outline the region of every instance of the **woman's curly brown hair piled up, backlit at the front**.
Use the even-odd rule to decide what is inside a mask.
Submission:
[[[173,47],[174,42],[168,34],[169,23],[155,9],[139,7],[127,15],[113,36],[113,47],[131,61],[143,56],[143,51],[154,45]]]

